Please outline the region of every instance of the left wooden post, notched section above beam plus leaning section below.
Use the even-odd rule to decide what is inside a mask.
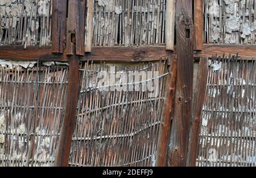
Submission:
[[[68,165],[73,130],[76,123],[76,107],[79,98],[79,61],[84,56],[84,35],[85,35],[85,0],[68,1],[68,22],[67,22],[67,55],[69,57],[68,93],[67,106],[55,166],[63,167]]]

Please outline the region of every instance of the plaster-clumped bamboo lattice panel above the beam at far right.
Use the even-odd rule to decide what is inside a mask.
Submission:
[[[205,0],[204,42],[255,44],[254,0]]]

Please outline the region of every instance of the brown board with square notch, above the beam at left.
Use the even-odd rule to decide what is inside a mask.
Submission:
[[[67,55],[84,55],[85,1],[68,1]]]

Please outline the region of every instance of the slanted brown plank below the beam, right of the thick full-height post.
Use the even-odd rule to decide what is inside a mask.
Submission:
[[[191,117],[191,132],[189,134],[187,166],[196,165],[197,144],[201,126],[201,114],[203,110],[205,90],[208,75],[208,57],[201,57],[199,71],[197,73],[195,96],[193,98],[193,109]]]

